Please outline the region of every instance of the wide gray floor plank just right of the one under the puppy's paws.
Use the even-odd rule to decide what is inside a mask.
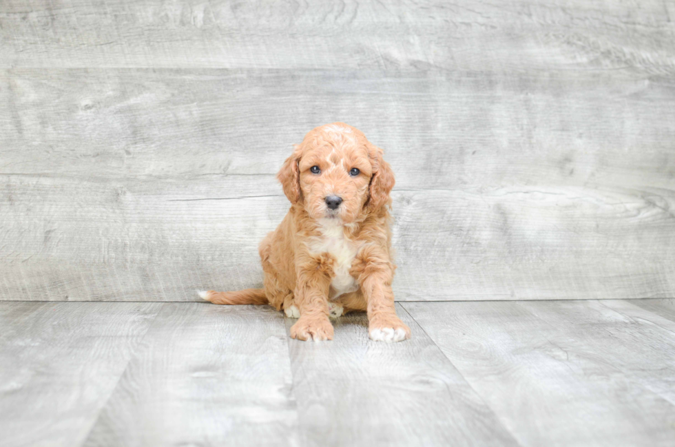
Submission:
[[[672,334],[594,301],[402,305],[523,446],[672,445],[675,406],[638,377],[674,375]]]

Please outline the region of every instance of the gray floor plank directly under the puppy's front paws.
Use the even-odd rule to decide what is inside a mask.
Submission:
[[[455,367],[402,309],[413,338],[368,340],[364,313],[335,340],[289,338],[303,446],[515,446]],[[287,320],[287,330],[296,320]]]

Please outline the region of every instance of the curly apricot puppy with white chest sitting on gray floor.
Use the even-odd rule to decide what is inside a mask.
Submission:
[[[329,316],[368,313],[372,340],[399,342],[411,331],[391,290],[391,167],[382,149],[344,123],[312,129],[281,167],[291,209],[260,243],[263,289],[203,291],[214,304],[271,304],[289,318],[291,337],[333,340]]]

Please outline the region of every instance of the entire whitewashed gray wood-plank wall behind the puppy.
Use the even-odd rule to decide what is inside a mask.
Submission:
[[[262,283],[312,127],[385,150],[399,300],[675,295],[675,2],[0,2],[0,299]]]

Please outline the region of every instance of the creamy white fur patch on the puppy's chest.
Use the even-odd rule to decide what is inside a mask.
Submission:
[[[329,296],[331,300],[334,300],[343,293],[358,289],[356,280],[349,274],[358,247],[353,241],[344,237],[342,225],[337,224],[333,219],[320,219],[319,222],[322,234],[309,242],[309,250],[312,253],[330,253],[335,258],[333,266],[335,277],[331,282]]]

